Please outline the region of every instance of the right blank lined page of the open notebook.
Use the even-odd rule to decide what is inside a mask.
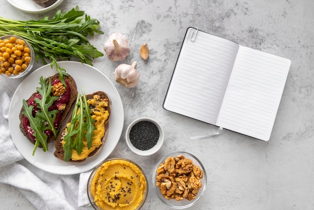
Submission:
[[[290,63],[240,46],[217,125],[268,141]]]

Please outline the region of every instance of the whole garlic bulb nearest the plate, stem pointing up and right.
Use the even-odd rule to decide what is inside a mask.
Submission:
[[[139,73],[135,69],[136,61],[132,65],[120,64],[113,72],[114,79],[124,87],[135,87],[139,80]]]

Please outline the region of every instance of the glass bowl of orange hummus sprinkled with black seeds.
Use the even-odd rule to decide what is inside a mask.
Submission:
[[[147,198],[148,181],[133,161],[112,158],[91,172],[87,194],[95,209],[140,209]]]

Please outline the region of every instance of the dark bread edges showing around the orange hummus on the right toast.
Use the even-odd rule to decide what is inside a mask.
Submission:
[[[100,151],[100,149],[104,146],[104,143],[105,143],[105,141],[107,140],[107,137],[108,137],[109,118],[110,118],[110,115],[111,115],[111,100],[110,100],[108,94],[103,92],[103,91],[97,91],[97,92],[94,92],[92,94],[87,94],[86,95],[86,99],[87,100],[88,99],[92,99],[94,95],[99,95],[101,99],[105,99],[105,98],[108,99],[107,100],[108,107],[106,107],[105,110],[108,111],[109,117],[104,122],[105,133],[104,133],[103,137],[101,138],[101,145],[99,147],[97,147],[93,152],[91,152],[87,156],[87,158],[95,156]],[[71,122],[71,118],[69,119],[68,123],[70,123],[70,122]],[[64,160],[64,149],[63,149],[63,145],[62,145],[64,133],[65,133],[65,128],[63,129],[62,132],[59,133],[58,138],[57,138],[57,140],[55,142],[56,151],[54,152],[54,155],[55,155],[56,158],[61,159],[61,160]],[[82,160],[72,160],[72,159],[70,159],[69,162],[77,162],[77,163],[79,163],[79,162],[83,162],[85,160],[86,160],[86,158],[84,158]]]

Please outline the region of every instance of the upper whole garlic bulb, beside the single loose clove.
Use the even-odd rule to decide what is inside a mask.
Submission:
[[[111,61],[124,60],[130,53],[130,46],[126,37],[118,32],[115,32],[108,37],[103,48]]]

